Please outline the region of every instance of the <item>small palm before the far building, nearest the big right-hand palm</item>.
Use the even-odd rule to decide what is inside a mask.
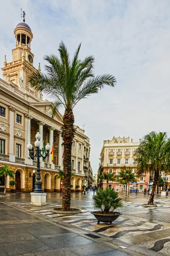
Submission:
[[[126,182],[126,192],[125,195],[127,196],[127,185],[128,185],[128,195],[129,195],[129,184],[130,181],[136,181],[136,176],[132,172],[132,169],[125,167],[123,170],[119,172],[120,177],[122,178],[120,182]]]

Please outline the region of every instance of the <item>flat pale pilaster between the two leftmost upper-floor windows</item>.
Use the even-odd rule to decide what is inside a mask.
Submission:
[[[15,108],[9,106],[9,161],[15,162],[14,156],[14,112]]]

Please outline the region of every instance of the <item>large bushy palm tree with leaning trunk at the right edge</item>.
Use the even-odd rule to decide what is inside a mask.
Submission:
[[[137,174],[144,172],[154,173],[153,189],[148,204],[153,205],[156,184],[161,172],[167,173],[170,169],[170,139],[166,132],[150,132],[142,138],[136,150]]]

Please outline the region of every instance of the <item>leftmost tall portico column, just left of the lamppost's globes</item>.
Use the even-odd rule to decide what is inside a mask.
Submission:
[[[31,119],[33,116],[29,114],[25,114],[25,150],[24,150],[24,158],[26,164],[32,164],[32,159],[29,157],[29,151],[27,149],[27,144],[31,142]]]

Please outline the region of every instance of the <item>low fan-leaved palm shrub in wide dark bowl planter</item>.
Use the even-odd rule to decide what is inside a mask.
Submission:
[[[100,221],[112,223],[115,221],[122,212],[114,212],[118,207],[122,207],[122,198],[119,198],[119,193],[114,189],[106,187],[105,189],[98,189],[96,195],[93,196],[94,208],[99,211],[91,212],[97,219],[97,223]]]

